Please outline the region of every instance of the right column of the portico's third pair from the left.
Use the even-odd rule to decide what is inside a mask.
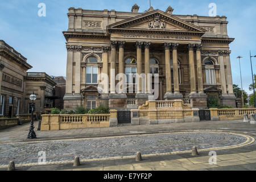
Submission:
[[[177,67],[177,47],[179,44],[173,43],[172,44],[172,63],[174,68],[174,98],[183,98],[182,94],[180,94],[180,87],[179,87],[179,69]]]

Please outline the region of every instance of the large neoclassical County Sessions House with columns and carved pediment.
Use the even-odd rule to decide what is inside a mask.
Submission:
[[[236,107],[230,67],[226,16],[175,15],[152,7],[139,13],[69,8],[67,82],[64,108],[89,109],[108,105],[118,110],[137,108],[148,94],[115,93],[118,73],[129,86],[138,85],[133,75],[158,76],[157,100],[177,100],[200,109],[208,98]],[[114,72],[112,72],[114,70]],[[109,92],[98,93],[102,77],[109,76]],[[152,86],[153,87],[153,86]]]

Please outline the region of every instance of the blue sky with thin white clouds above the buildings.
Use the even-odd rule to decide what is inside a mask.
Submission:
[[[46,5],[46,16],[38,16],[39,3]],[[68,29],[68,8],[87,10],[131,11],[137,3],[139,12],[149,7],[149,0],[0,0],[0,39],[27,58],[29,72],[46,72],[51,76],[66,75],[67,50],[63,31]],[[230,44],[233,84],[241,88],[237,56],[242,56],[243,89],[247,93],[252,83],[250,51],[256,55],[255,0],[151,0],[154,9],[174,8],[174,14],[209,16],[210,3],[217,6],[217,15],[228,17],[228,35],[235,38]],[[256,58],[252,58],[256,74]]]

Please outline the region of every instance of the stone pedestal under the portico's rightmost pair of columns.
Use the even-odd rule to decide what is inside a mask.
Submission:
[[[208,109],[207,107],[207,94],[200,92],[191,92],[188,96],[191,100],[191,106],[193,108]]]

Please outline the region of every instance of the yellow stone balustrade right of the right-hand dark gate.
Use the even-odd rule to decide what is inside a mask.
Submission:
[[[210,109],[210,117],[212,120],[235,120],[243,119],[243,114],[254,114],[256,108],[234,108],[234,109]]]

